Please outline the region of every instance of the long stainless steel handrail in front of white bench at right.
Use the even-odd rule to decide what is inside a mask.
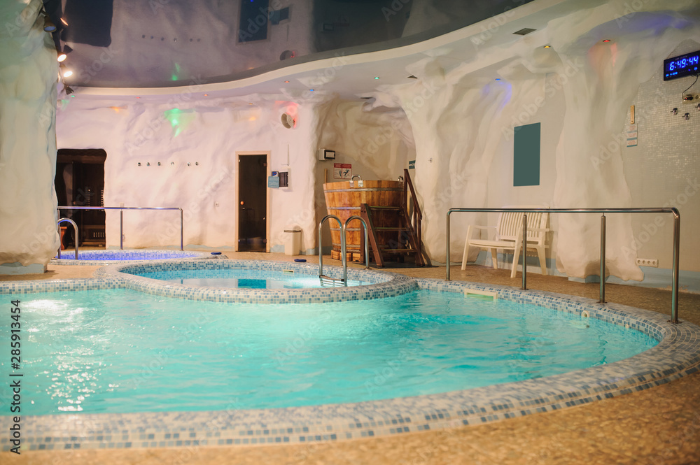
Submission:
[[[601,217],[601,296],[605,303],[605,213],[673,213],[673,277],[671,282],[671,322],[678,323],[678,262],[680,261],[680,212],[678,208],[450,208],[447,210],[447,280],[449,281],[449,215],[459,213],[523,213],[523,284],[527,289],[527,220],[526,213],[603,213]],[[517,259],[513,257],[513,259]],[[542,264],[542,266],[545,266]]]

